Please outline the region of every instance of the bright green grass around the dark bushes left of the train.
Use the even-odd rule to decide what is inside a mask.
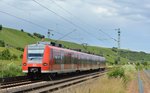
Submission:
[[[23,53],[15,48],[5,48],[0,47],[0,52],[8,49],[10,54],[15,54],[18,59],[17,60],[0,60],[0,77],[12,77],[23,75],[21,70],[22,59],[20,55]]]

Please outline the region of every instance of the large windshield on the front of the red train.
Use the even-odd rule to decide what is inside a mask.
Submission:
[[[41,63],[44,49],[28,49],[28,62]]]

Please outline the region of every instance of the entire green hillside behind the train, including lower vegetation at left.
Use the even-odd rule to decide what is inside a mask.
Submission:
[[[40,41],[40,37],[42,35],[40,37],[38,36],[39,35],[32,35],[31,33],[11,28],[3,28],[3,30],[0,30],[0,77],[11,77],[24,74],[21,70],[23,48],[28,44]],[[45,41],[54,40],[45,39]],[[104,56],[107,60],[107,65],[114,64],[117,59],[116,48],[96,46],[85,47],[81,44],[68,41],[57,41],[57,43],[63,44],[65,48],[81,49],[83,52],[91,52]],[[150,54],[144,52],[135,52],[123,49],[120,51],[122,64],[126,64],[128,62],[141,62],[141,60],[148,62],[150,60]],[[8,59],[5,60],[5,57]]]

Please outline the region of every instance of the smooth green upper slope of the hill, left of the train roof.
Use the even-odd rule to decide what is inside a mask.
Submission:
[[[26,32],[11,28],[3,28],[3,30],[0,31],[0,40],[4,40],[5,43],[9,45],[24,48],[25,45],[35,43],[40,39],[37,37],[30,37]]]

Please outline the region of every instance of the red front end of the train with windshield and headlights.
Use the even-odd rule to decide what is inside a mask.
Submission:
[[[23,54],[22,70],[24,73],[47,73],[49,71],[50,49],[47,45],[28,45]]]

